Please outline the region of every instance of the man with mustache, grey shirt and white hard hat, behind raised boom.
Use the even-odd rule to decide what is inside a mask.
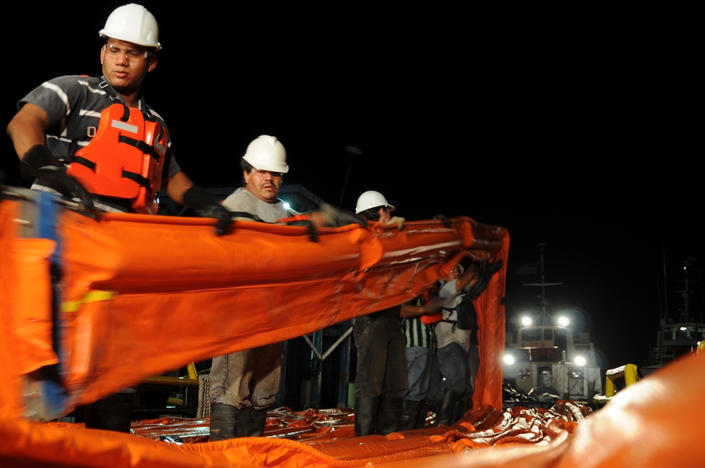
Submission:
[[[318,211],[299,213],[278,198],[289,171],[286,149],[277,137],[259,135],[240,159],[243,187],[223,200],[235,219],[265,223],[306,222],[314,228],[367,221],[349,211],[321,204]],[[291,220],[291,221],[288,221]],[[264,435],[266,412],[276,400],[281,377],[281,344],[217,356],[210,374],[210,441]]]

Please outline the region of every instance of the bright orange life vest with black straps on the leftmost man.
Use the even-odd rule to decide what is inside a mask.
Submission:
[[[166,141],[161,124],[145,120],[135,107],[112,104],[66,173],[95,195],[129,199],[137,213],[157,214]]]

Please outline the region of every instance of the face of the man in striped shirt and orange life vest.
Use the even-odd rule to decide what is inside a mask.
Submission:
[[[100,49],[103,75],[116,90],[133,92],[149,71],[157,66],[157,56],[132,42],[110,37]]]

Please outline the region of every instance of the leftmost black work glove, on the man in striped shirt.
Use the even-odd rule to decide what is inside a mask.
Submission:
[[[94,211],[93,197],[81,183],[66,173],[63,166],[43,144],[35,144],[25,153],[22,162],[30,168],[30,173],[41,179],[47,187],[68,199],[78,198],[88,211]]]

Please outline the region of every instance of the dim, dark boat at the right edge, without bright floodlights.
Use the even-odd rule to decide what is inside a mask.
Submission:
[[[665,298],[658,318],[654,345],[646,350],[643,362],[639,366],[641,376],[648,376],[677,359],[696,352],[699,345],[705,342],[701,278],[694,277],[699,275],[699,269],[695,268],[696,264],[697,258],[692,256],[682,262],[682,278],[675,281],[680,283],[675,290],[675,293],[680,296],[680,307],[675,312],[670,311],[668,297]],[[666,271],[665,268],[664,271]],[[664,279],[666,280],[665,273]],[[668,285],[667,281],[664,283]]]

